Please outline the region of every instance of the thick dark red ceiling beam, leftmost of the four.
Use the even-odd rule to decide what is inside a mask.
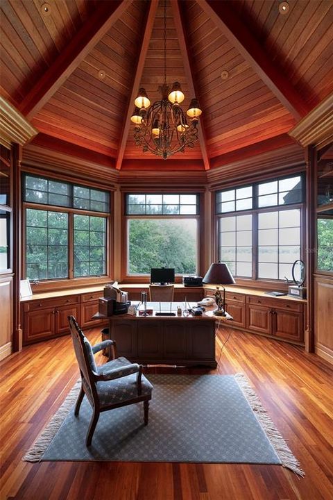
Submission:
[[[83,24],[67,47],[60,52],[53,65],[47,69],[19,105],[19,111],[26,118],[33,118],[51,99],[129,4],[130,0],[101,2],[99,8]]]

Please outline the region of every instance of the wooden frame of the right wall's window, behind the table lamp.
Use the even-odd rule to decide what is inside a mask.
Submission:
[[[298,203],[289,203],[286,205],[275,205],[268,207],[257,207],[257,186],[262,183],[268,183],[273,181],[282,181],[287,178],[293,178],[296,176],[300,176],[301,178],[301,188],[300,191],[302,193],[302,201]],[[221,191],[228,191],[232,189],[239,189],[243,187],[253,186],[253,208],[247,210],[235,210],[234,212],[226,212],[226,213],[217,213],[217,196]],[[216,190],[214,193],[214,197],[212,200],[213,203],[213,213],[214,213],[214,256],[215,260],[219,258],[219,219],[224,217],[237,217],[238,215],[253,215],[252,219],[252,249],[253,249],[253,260],[252,260],[252,276],[237,276],[234,277],[237,280],[237,283],[240,285],[257,285],[258,287],[264,288],[272,288],[273,285],[276,285],[277,288],[287,290],[288,283],[284,280],[280,280],[278,278],[258,278],[258,215],[259,213],[269,213],[269,212],[280,212],[282,210],[300,210],[300,259],[305,261],[305,215],[306,215],[306,204],[305,204],[305,174],[304,172],[293,172],[293,174],[282,175],[282,176],[274,176],[274,177],[265,177],[261,178],[258,181],[251,183],[237,183],[237,185],[229,184],[228,186],[223,187],[223,190]]]

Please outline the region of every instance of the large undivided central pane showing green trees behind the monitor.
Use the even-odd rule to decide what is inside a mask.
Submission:
[[[196,219],[130,219],[128,274],[149,274],[151,267],[196,274],[197,233]]]

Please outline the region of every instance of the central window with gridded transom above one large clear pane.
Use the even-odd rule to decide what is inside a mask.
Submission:
[[[198,195],[127,194],[127,274],[198,271]]]

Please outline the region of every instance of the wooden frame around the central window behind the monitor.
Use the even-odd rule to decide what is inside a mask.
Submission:
[[[162,214],[149,214],[149,215],[127,215],[127,197],[130,194],[196,194],[197,197],[197,215],[162,215]],[[196,267],[197,272],[200,274],[200,269],[204,266],[204,252],[200,251],[200,242],[204,241],[204,224],[203,224],[203,190],[198,189],[183,189],[183,190],[126,190],[122,192],[122,221],[121,233],[123,238],[121,240],[121,282],[122,283],[149,283],[150,276],[148,274],[128,274],[128,221],[130,219],[196,219],[197,220],[197,242],[196,242]],[[182,283],[182,275],[175,275],[175,283]]]

